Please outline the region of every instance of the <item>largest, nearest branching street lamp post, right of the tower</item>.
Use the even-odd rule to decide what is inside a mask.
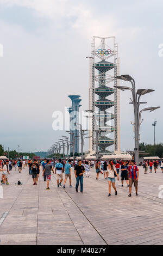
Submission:
[[[128,81],[131,83],[131,88],[130,87],[125,87],[125,86],[115,86],[115,88],[121,89],[121,90],[131,90],[133,98],[131,99],[131,104],[134,106],[134,119],[135,119],[135,162],[138,164],[139,163],[139,130],[140,130],[140,124],[141,124],[141,113],[143,111],[154,111],[155,109],[159,107],[150,107],[150,108],[144,108],[139,112],[139,107],[141,104],[145,104],[147,102],[140,102],[140,97],[142,95],[145,95],[147,93],[154,92],[154,90],[151,89],[139,89],[137,90],[136,93],[136,88],[135,88],[135,80],[129,76],[129,75],[122,75],[122,76],[117,76],[117,79],[123,80],[123,81]]]

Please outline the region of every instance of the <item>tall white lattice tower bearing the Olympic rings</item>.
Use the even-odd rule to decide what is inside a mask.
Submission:
[[[99,154],[110,153],[106,148],[113,144],[115,153],[120,153],[120,92],[114,88],[118,85],[115,77],[119,75],[120,62],[115,37],[93,36],[89,58],[89,108],[96,113],[90,119],[89,150],[95,150],[95,130],[99,130]],[[98,99],[95,99],[95,94],[98,95]],[[111,112],[107,111],[109,108]],[[114,125],[111,125],[111,120],[114,120]],[[109,138],[108,135],[112,132],[114,138]]]

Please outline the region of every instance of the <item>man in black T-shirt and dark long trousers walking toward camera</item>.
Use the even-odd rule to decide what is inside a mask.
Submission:
[[[77,179],[77,184],[76,184],[76,192],[78,192],[78,186],[80,182],[80,193],[83,194],[83,174],[85,173],[85,168],[82,165],[82,160],[78,161],[78,164],[74,168],[74,175],[76,176]]]

